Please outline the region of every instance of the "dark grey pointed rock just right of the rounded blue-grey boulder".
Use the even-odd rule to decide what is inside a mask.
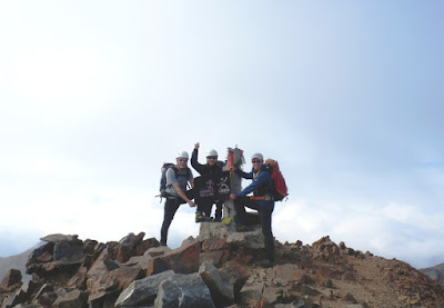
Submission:
[[[225,272],[219,271],[211,264],[202,264],[199,268],[211,297],[218,307],[225,307],[234,304],[233,278]]]

